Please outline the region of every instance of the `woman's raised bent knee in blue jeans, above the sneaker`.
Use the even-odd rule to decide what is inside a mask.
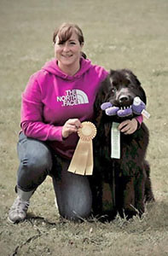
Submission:
[[[25,191],[36,189],[52,169],[52,156],[42,142],[21,137],[18,143],[20,166],[17,185]]]

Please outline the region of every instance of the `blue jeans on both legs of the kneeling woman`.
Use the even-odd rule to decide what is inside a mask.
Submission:
[[[37,189],[49,175],[62,217],[78,219],[90,215],[92,195],[88,177],[67,172],[70,160],[55,155],[47,143],[26,137],[23,132],[17,149],[20,159],[17,187],[23,191]]]

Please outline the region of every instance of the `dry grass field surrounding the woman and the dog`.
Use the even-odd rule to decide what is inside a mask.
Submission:
[[[0,0],[0,255],[168,255],[167,14],[167,0]],[[62,220],[47,178],[32,196],[29,218],[7,221],[15,197],[21,92],[53,57],[52,33],[63,21],[82,27],[92,62],[130,68],[147,92],[147,158],[156,202],[142,219]]]

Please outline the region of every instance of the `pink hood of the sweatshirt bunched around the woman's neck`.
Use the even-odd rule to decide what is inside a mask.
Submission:
[[[48,73],[55,74],[55,76],[58,76],[61,79],[74,80],[79,79],[85,72],[87,72],[90,69],[90,67],[91,61],[88,59],[85,60],[83,57],[81,57],[80,69],[78,70],[78,73],[76,73],[74,76],[70,76],[67,75],[67,73],[63,73],[61,69],[58,67],[58,61],[56,59],[46,62],[42,69],[47,71]]]

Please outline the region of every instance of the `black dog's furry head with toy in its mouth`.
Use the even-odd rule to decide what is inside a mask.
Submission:
[[[129,69],[110,70],[96,97],[95,110],[101,108],[104,102],[109,102],[120,109],[130,108],[136,96],[147,103],[145,91],[136,75]]]

